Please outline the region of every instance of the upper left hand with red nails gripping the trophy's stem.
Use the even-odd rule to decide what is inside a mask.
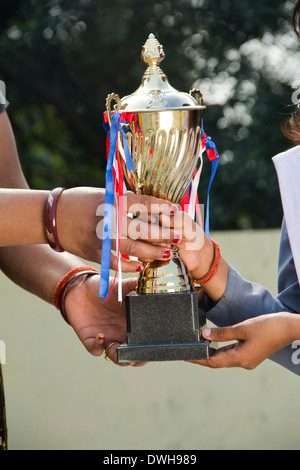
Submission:
[[[57,206],[57,231],[60,244],[66,251],[100,263],[104,200],[104,189],[97,188],[72,188],[61,194]],[[141,261],[163,260],[170,256],[169,248],[174,231],[159,225],[151,225],[151,221],[155,214],[170,215],[176,207],[171,202],[134,193],[124,196],[124,202],[126,203],[120,241],[121,253]],[[139,219],[128,217],[128,213],[138,213]],[[154,243],[147,243],[149,236]],[[115,234],[112,249],[116,249]],[[117,256],[112,253],[111,268],[116,269],[116,267]],[[122,259],[124,272],[135,272],[140,269],[141,262]]]

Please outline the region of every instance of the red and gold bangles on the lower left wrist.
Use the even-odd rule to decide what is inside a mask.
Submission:
[[[95,274],[99,274],[99,271],[92,266],[79,266],[78,268],[71,269],[71,271],[57,283],[52,295],[52,304],[60,311],[67,323],[69,323],[69,321],[65,310],[65,299],[69,288],[81,277],[93,276]]]

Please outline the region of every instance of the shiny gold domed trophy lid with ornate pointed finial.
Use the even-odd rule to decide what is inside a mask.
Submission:
[[[120,110],[164,111],[170,109],[204,109],[200,90],[184,93],[173,88],[158,64],[164,59],[162,45],[150,34],[145,42],[141,59],[148,65],[141,85],[131,95],[121,99]]]

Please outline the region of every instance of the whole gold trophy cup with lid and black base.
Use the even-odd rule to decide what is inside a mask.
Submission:
[[[199,90],[183,93],[169,84],[158,65],[164,57],[150,34],[141,53],[148,68],[140,87],[122,99],[108,95],[106,111],[109,124],[112,112],[123,116],[118,151],[129,188],[180,204],[199,161],[205,106]],[[126,165],[124,138],[133,171]],[[176,245],[171,251],[171,259],[144,263],[136,292],[126,296],[127,344],[117,350],[120,363],[209,358],[197,293]]]

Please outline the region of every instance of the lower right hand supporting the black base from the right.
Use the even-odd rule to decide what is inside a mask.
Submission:
[[[279,349],[291,344],[299,335],[300,316],[287,312],[270,313],[245,320],[234,326],[204,328],[202,336],[210,341],[237,341],[217,351],[208,360],[189,361],[211,367],[255,369]]]

